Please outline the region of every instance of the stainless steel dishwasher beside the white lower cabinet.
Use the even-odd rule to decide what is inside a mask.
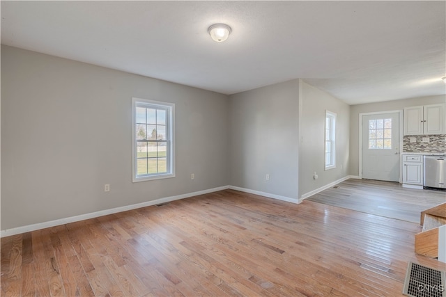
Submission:
[[[424,156],[424,184],[432,188],[446,188],[446,157]]]

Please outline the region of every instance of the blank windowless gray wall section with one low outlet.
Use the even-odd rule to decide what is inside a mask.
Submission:
[[[231,186],[297,201],[298,93],[295,79],[229,97]]]

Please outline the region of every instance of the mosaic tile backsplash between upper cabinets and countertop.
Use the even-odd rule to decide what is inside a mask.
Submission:
[[[423,138],[429,138],[429,143]],[[446,134],[403,136],[403,152],[446,152]]]

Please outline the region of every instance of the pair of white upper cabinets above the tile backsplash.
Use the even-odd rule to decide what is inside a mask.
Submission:
[[[446,134],[446,104],[411,106],[404,109],[404,135]]]

